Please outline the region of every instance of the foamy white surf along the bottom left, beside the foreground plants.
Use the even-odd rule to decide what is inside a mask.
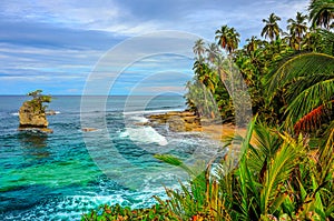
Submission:
[[[76,194],[61,199],[49,198],[47,202],[33,205],[28,212],[9,212],[4,220],[81,220],[82,213],[88,213],[91,208],[98,208],[101,204],[118,203],[132,209],[150,207],[156,203],[154,194],[155,192],[116,191],[105,195]],[[158,192],[155,195],[164,198],[165,193]]]

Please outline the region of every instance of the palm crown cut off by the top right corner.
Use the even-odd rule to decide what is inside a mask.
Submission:
[[[333,0],[312,0],[308,10],[312,24],[331,29],[334,19]]]

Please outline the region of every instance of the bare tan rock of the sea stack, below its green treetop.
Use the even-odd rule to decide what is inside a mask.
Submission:
[[[49,122],[46,117],[46,112],[42,108],[36,106],[32,101],[23,102],[19,111],[20,127],[18,130],[33,130],[46,133],[52,133],[53,131],[48,128]]]

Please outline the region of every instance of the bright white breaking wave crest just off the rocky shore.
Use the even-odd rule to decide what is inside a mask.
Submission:
[[[126,130],[121,132],[119,137],[128,137],[132,141],[141,143],[158,143],[159,145],[168,144],[167,139],[151,127],[126,128]]]

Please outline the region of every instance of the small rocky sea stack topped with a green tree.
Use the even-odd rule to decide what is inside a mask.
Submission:
[[[33,130],[39,132],[52,133],[48,128],[46,108],[43,103],[51,102],[51,96],[41,94],[42,90],[29,92],[31,100],[24,101],[19,111],[20,125],[19,130]]]

